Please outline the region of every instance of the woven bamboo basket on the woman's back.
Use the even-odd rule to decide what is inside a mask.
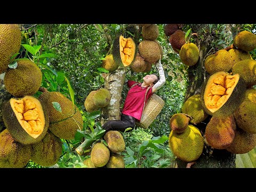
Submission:
[[[149,125],[154,121],[157,115],[161,112],[164,107],[164,100],[157,94],[151,95],[145,104],[140,122],[136,121],[136,125],[147,129]]]

